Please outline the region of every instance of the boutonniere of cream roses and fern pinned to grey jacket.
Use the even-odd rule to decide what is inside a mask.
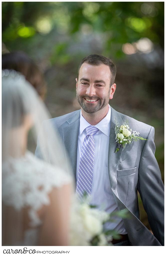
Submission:
[[[129,120],[126,119],[125,123],[122,125],[119,125],[117,118],[114,118],[115,120],[115,140],[117,144],[116,152],[119,151],[119,148],[121,146],[125,147],[127,144],[130,144],[133,140],[138,141],[138,140],[147,140],[144,139],[143,137],[139,136],[139,132],[132,131],[129,127]]]

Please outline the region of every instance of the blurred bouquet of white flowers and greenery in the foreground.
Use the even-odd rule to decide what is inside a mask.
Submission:
[[[69,244],[71,246],[112,246],[112,239],[119,239],[115,230],[105,230],[107,221],[114,221],[114,216],[126,217],[126,212],[108,214],[88,203],[76,201],[70,218]],[[126,216],[125,216],[126,215]],[[77,223],[77,225],[75,225]]]

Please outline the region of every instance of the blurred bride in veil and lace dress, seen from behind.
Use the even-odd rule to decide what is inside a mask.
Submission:
[[[41,130],[42,122],[49,118],[43,102],[24,76],[16,71],[3,71],[3,246],[69,244],[73,179],[58,135],[48,122],[48,132]],[[29,131],[35,143],[40,131],[42,160],[27,150]]]

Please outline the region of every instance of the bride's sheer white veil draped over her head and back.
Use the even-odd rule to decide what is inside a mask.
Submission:
[[[54,130],[49,122],[50,114],[44,103],[39,98],[35,89],[25,80],[24,76],[14,70],[2,71],[2,172],[5,173],[10,168],[10,158],[22,159],[26,154],[27,133],[29,128],[30,135],[33,137],[34,143],[40,147],[40,158],[44,163],[50,163],[54,168],[54,177],[58,169],[62,169],[67,176],[71,177],[72,188],[74,187],[74,179],[70,168],[70,163],[65,153],[64,147],[60,141],[58,133]],[[46,121],[47,120],[47,121]],[[26,121],[26,126],[23,125]],[[47,126],[47,129],[45,127]],[[34,156],[34,155],[33,155]],[[33,160],[32,160],[33,162]],[[19,164],[19,161],[18,161]],[[33,165],[33,163],[31,163]],[[25,165],[26,166],[26,165]],[[20,168],[20,166],[19,166]],[[24,179],[24,169],[21,169]],[[3,233],[7,233],[7,240],[12,239],[13,245],[15,241],[22,237],[24,223],[24,211],[13,211],[11,204],[5,198],[7,184],[14,183],[15,189],[19,190],[19,181],[12,179],[8,175],[6,182],[3,184],[2,178],[2,238]],[[45,171],[47,178],[47,170]],[[58,174],[57,174],[58,178]],[[21,179],[21,178],[20,178]],[[22,193],[26,191],[22,190]],[[73,189],[74,193],[74,189]],[[11,195],[12,196],[12,195]],[[33,195],[32,195],[33,196]],[[19,202],[19,197],[16,198]],[[30,200],[30,199],[29,199]],[[37,203],[37,202],[36,202]],[[63,202],[61,202],[63,204]],[[16,223],[10,223],[10,216],[15,215]],[[10,231],[10,232],[7,232]]]

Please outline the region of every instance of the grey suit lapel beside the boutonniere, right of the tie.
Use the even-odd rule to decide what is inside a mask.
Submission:
[[[109,150],[108,150],[108,172],[109,172],[109,180],[110,180],[112,191],[118,197],[117,190],[116,190],[116,186],[117,186],[116,173],[117,173],[120,157],[124,149],[123,147],[120,147],[119,151],[115,153],[116,147],[117,147],[117,144],[115,141],[115,121],[114,121],[115,116],[120,125],[124,123],[124,119],[122,118],[121,114],[111,107],[111,122],[110,122],[110,136],[109,136]]]

